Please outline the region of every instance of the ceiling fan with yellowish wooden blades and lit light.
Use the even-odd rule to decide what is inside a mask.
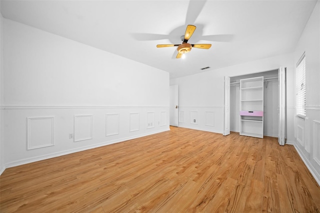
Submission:
[[[188,40],[190,39],[191,35],[193,34],[196,26],[194,25],[187,25],[185,29],[184,36],[181,36],[182,43],[181,44],[157,44],[156,47],[169,47],[169,46],[177,46],[178,54],[176,58],[180,58],[183,54],[189,52],[192,47],[201,48],[201,49],[208,49],[211,47],[209,43],[198,43],[198,44],[190,44]]]

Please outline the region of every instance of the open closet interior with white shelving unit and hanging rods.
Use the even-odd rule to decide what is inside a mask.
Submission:
[[[278,137],[278,69],[230,77],[230,130]]]

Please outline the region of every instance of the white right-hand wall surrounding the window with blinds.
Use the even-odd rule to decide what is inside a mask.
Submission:
[[[294,50],[295,64],[305,51],[306,118],[295,117],[294,144],[301,158],[320,184],[320,1]],[[295,111],[294,111],[295,114]]]

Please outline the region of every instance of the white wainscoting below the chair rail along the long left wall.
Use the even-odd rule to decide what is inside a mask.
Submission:
[[[169,130],[168,106],[21,105],[1,110],[5,168]],[[148,121],[152,128],[146,128]]]

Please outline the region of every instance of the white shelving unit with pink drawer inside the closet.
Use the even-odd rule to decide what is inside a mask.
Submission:
[[[240,135],[263,138],[263,76],[240,79]]]

